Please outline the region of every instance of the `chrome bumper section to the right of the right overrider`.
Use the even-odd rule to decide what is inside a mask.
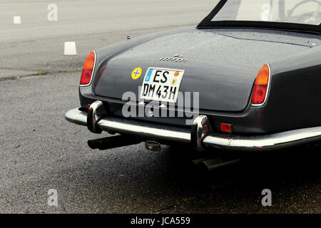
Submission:
[[[307,142],[321,140],[321,127],[289,130],[271,135],[240,137],[227,135],[208,135],[203,140],[205,147],[219,147],[227,150],[263,151],[277,150]]]

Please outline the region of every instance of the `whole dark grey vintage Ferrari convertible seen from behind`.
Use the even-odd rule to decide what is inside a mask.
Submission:
[[[91,52],[66,120],[101,150],[263,151],[321,140],[321,1],[222,0],[195,28]]]

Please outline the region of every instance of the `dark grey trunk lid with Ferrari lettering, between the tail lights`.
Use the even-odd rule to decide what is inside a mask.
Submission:
[[[149,67],[184,70],[181,92],[199,92],[203,110],[241,111],[250,100],[253,83],[260,68],[269,61],[304,51],[306,38],[288,33],[266,31],[191,29],[153,38],[108,59],[106,71],[96,81],[96,95],[121,99],[138,86]],[[188,61],[161,61],[182,55]],[[133,69],[141,68],[133,80]]]

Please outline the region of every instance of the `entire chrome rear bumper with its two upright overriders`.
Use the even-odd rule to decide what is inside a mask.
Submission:
[[[66,120],[71,123],[88,127],[87,115],[88,113],[76,108],[69,110],[65,117]],[[188,142],[198,148],[198,150],[203,150],[208,147],[245,151],[277,150],[284,147],[321,140],[321,127],[290,130],[271,135],[243,137],[213,133],[206,116],[196,118],[194,122],[195,127],[186,129],[152,123],[141,123],[139,121],[124,120],[120,118],[99,118],[98,116],[95,117],[95,115],[96,114],[94,113],[93,123],[96,125],[96,128],[99,128],[100,130],[137,135],[141,138],[150,138],[155,140]],[[204,125],[208,125],[206,128],[208,130],[207,132],[204,131]],[[92,130],[92,128],[89,129]],[[195,133],[193,133],[193,131]]]

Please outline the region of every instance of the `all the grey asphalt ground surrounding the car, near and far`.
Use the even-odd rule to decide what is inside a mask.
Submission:
[[[46,19],[49,3],[58,21]],[[320,149],[249,154],[208,172],[186,147],[143,143],[88,148],[68,123],[84,58],[93,49],[154,31],[196,25],[213,1],[9,1],[0,3],[0,213],[320,213]],[[22,24],[12,24],[14,16]],[[76,41],[76,56],[63,42]],[[48,205],[48,191],[58,206]],[[262,190],[272,192],[263,207]]]

